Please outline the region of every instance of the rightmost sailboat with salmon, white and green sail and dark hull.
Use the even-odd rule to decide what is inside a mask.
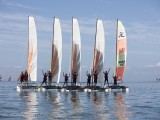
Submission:
[[[127,37],[125,32],[125,27],[120,20],[117,20],[117,34],[116,34],[116,67],[114,76],[118,83],[123,80],[125,68],[126,68],[126,58],[127,58]],[[112,89],[129,90],[125,86],[111,86]]]

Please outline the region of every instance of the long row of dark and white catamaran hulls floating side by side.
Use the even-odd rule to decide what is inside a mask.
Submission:
[[[17,91],[34,90],[34,91],[79,91],[79,92],[129,92],[129,88],[126,86],[108,86],[102,88],[101,86],[17,86]]]

